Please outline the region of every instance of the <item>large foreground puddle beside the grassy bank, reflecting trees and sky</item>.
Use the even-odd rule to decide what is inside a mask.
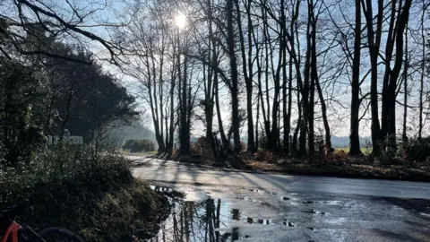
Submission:
[[[151,188],[160,192],[175,193],[173,189],[165,186],[151,186]],[[254,191],[264,193],[262,190]],[[199,192],[195,191],[195,193]],[[200,193],[204,194],[204,192]],[[186,194],[185,199],[170,200],[171,214],[160,224],[157,235],[148,241],[236,241],[253,238],[252,231],[258,230],[260,226],[275,224],[270,218],[249,216],[250,214],[238,209],[234,203],[235,199],[254,202],[246,196],[236,197],[233,200],[221,200],[206,195],[200,200],[187,201],[188,196],[189,194]],[[255,226],[255,228],[246,230],[246,226]]]

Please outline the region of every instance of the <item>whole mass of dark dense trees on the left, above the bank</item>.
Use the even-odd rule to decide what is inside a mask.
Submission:
[[[68,130],[97,144],[106,138],[108,125],[138,117],[134,98],[90,54],[46,40],[53,53],[82,62],[43,55],[27,62],[0,59],[0,138],[6,163],[29,158],[31,144],[46,143],[45,135],[61,140]]]

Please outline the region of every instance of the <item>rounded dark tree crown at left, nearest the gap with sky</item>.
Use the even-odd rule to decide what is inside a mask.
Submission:
[[[90,55],[82,52],[73,58],[93,62]],[[114,125],[114,121],[127,123],[138,116],[134,98],[101,65],[63,61],[50,63],[45,70],[49,92],[44,124],[48,134],[62,136],[68,129],[90,142],[103,135],[106,125]]]

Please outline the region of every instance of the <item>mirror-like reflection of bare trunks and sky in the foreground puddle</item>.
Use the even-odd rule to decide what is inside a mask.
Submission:
[[[226,216],[228,212],[230,215]],[[222,230],[222,228],[231,225],[233,220],[271,224],[271,220],[242,218],[240,210],[229,209],[229,203],[221,203],[220,199],[209,198],[199,202],[173,202],[172,214],[161,225],[158,235],[151,238],[150,241],[236,241],[242,237],[238,228],[232,228],[231,232],[219,231],[219,229]]]

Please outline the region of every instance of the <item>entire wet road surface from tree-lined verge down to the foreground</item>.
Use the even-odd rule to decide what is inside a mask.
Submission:
[[[187,204],[219,201],[221,225],[212,230],[228,237],[225,241],[430,241],[430,184],[249,173],[129,158],[135,160],[135,177],[184,192]],[[176,207],[187,211],[184,203]],[[195,209],[192,221],[205,218],[207,209]],[[178,228],[172,216],[160,233],[175,234],[166,229]],[[207,235],[202,228],[208,226],[192,228],[194,237]],[[160,238],[152,241],[181,240]]]

